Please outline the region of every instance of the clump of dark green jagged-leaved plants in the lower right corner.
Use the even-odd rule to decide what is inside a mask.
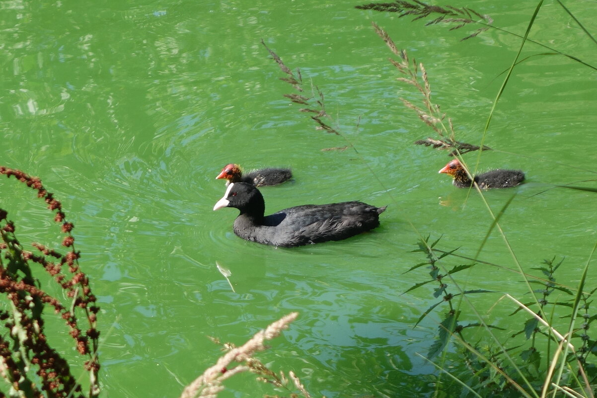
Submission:
[[[417,324],[432,311],[447,310],[439,321],[438,335],[429,347],[427,360],[436,361],[438,369],[456,381],[454,385],[463,387],[463,396],[482,393],[485,397],[530,398],[564,393],[593,397],[591,389],[597,379],[597,342],[590,333],[590,324],[597,316],[592,314],[590,304],[597,289],[584,290],[588,267],[585,267],[576,289],[556,281],[556,271],[563,260],[546,259],[540,266],[531,268],[539,275],[521,273],[529,287],[530,300],[523,303],[507,293],[501,295],[515,304],[510,316],[521,311],[527,314],[525,322],[518,323],[521,327],[516,330],[518,326],[513,326],[516,323],[512,320],[506,324],[487,323],[483,310],[473,304],[474,295],[495,295],[497,292],[463,290],[459,285],[462,281],[455,279],[457,273],[479,264],[506,267],[458,255],[457,249],[438,249],[439,240],[421,239],[414,252],[424,253],[427,260],[406,271],[427,266],[430,276],[406,292],[428,283],[437,284],[433,289],[433,298],[437,300],[423,311]],[[453,265],[454,261],[457,261],[456,265]],[[463,306],[464,303],[467,305]],[[470,311],[464,311],[465,307]],[[515,332],[504,336],[506,326],[514,327]],[[473,329],[476,332],[465,333],[465,330]],[[456,356],[447,349],[450,342],[460,348]],[[446,383],[444,380],[442,384]]]

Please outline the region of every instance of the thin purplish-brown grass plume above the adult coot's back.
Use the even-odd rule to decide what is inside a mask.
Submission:
[[[290,68],[288,68],[288,66],[284,65],[284,62],[282,62],[280,57],[278,57],[278,54],[274,53],[272,50],[270,50],[269,47],[267,47],[263,40],[261,40],[261,44],[263,44],[263,47],[267,49],[270,56],[272,56],[273,60],[275,60],[275,62],[278,63],[278,66],[280,67],[282,72],[286,74],[286,76],[280,78],[280,80],[285,81],[288,84],[291,84],[294,87],[294,89],[297,90],[299,93],[303,93],[303,77],[300,74],[300,70],[297,69],[295,75],[290,70]],[[317,96],[319,97],[319,99],[315,100],[315,103],[313,103],[313,97],[306,97],[302,94],[284,94],[284,97],[290,99],[291,102],[298,103],[300,105],[305,105],[307,108],[301,108],[301,112],[308,112],[314,114],[311,116],[311,118],[315,120],[315,122],[318,124],[318,130],[324,130],[327,133],[333,133],[337,136],[341,135],[340,133],[338,133],[338,131],[336,131],[336,129],[331,127],[330,124],[326,123],[322,119],[328,117],[328,114],[325,112],[324,93],[322,93],[318,87],[315,87],[315,90],[317,91]]]

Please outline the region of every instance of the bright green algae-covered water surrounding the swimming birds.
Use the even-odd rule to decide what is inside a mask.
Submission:
[[[435,368],[417,353],[427,353],[445,308],[415,327],[436,302],[436,285],[405,293],[429,278],[424,268],[405,273],[424,261],[411,251],[427,235],[506,267],[478,264],[459,281],[494,290],[476,297],[479,312],[491,308],[510,333],[521,329],[522,317],[507,317],[511,303],[493,307],[506,287],[526,292],[507,270],[516,268],[513,256],[497,231],[478,253],[487,208],[438,174],[447,152],[413,145],[435,133],[402,104],[420,104],[420,94],[396,81],[371,22],[425,65],[457,140],[476,144],[520,39],[488,30],[460,41],[476,27],[424,26],[359,4],[0,2],[0,164],[41,177],[75,224],[101,305],[103,396],[177,397],[221,355],[208,336],[242,344],[292,311],[298,319],[262,357],[275,371],[294,370],[313,396],[430,396]],[[519,35],[535,7],[452,5]],[[595,9],[574,7],[591,26]],[[541,9],[530,37],[597,65],[593,42],[555,4]],[[305,96],[321,91],[341,136],[317,130],[303,106],[283,97],[296,91],[279,79],[262,39],[300,68]],[[500,225],[525,271],[565,257],[558,281],[576,286],[597,240],[596,197],[553,186],[595,186],[597,72],[537,55],[545,52],[525,44],[485,140],[494,151],[482,153],[479,169],[527,173],[524,185],[485,198],[498,213],[516,195]],[[231,162],[293,169],[293,181],[261,189],[266,212],[346,200],[388,207],[379,228],[345,241],[250,243],[232,232],[237,210],[212,211],[224,193],[215,177]],[[5,179],[0,192],[23,243],[56,246],[31,192]],[[66,328],[48,338],[76,358]],[[274,393],[253,379],[230,379],[221,396]]]

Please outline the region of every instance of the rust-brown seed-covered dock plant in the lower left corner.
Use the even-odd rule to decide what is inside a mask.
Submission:
[[[79,268],[80,253],[75,250],[75,238],[71,233],[74,226],[65,221],[62,204],[44,188],[38,177],[3,166],[0,166],[0,174],[14,176],[37,191],[48,209],[56,212],[54,221],[60,224],[64,234],[61,244],[69,250],[63,254],[39,243],[32,246],[41,254],[24,250],[16,237],[15,223],[8,220],[6,210],[0,209],[0,293],[4,293],[10,303],[10,309],[0,310],[0,320],[11,331],[0,336],[0,374],[11,385],[10,396],[41,397],[45,396],[42,393],[45,391],[52,397],[97,397],[100,393],[97,379],[100,332],[96,329],[99,307],[87,275]],[[34,273],[40,270],[39,265],[56,280],[69,303],[62,303],[59,298],[41,289],[34,277]],[[46,339],[44,317],[50,314],[50,311],[45,311],[44,315],[46,307],[60,314],[70,329],[69,335],[75,341],[76,350],[87,357],[84,363],[90,377],[87,394],[83,393],[73,376],[69,363],[50,347]],[[82,330],[84,327],[78,321],[81,313],[88,322],[86,331]]]

